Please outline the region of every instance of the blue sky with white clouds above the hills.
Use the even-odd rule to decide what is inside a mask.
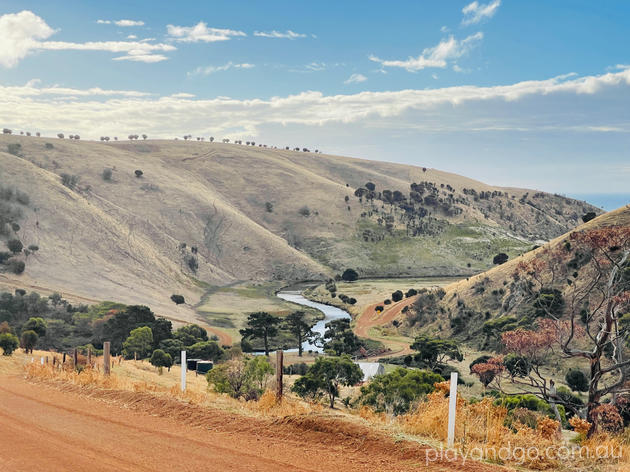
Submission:
[[[625,0],[2,0],[0,126],[255,140],[616,205],[628,44]]]

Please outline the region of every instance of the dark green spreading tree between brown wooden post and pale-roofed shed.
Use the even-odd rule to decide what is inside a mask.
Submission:
[[[339,387],[354,385],[361,379],[363,372],[350,356],[318,357],[306,374],[295,381],[292,390],[303,398],[326,395],[330,408],[334,408]]]

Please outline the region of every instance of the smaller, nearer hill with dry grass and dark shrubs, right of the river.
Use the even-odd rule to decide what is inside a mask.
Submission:
[[[599,216],[574,230],[589,232],[608,228],[630,227],[630,205]],[[462,279],[444,287],[441,292],[420,294],[414,309],[400,317],[400,331],[406,334],[427,331],[444,337],[455,336],[481,349],[496,347],[500,333],[517,327],[531,328],[536,315],[536,303],[544,303],[540,293],[524,290],[515,276],[521,264],[540,263],[541,273],[536,274],[545,290],[557,290],[558,300],[569,304],[565,292],[571,289],[567,279],[547,271],[550,254],[560,257],[556,266],[568,267],[571,284],[590,283],[593,274],[582,270],[589,259],[586,252],[572,242],[570,233],[553,239],[544,246],[529,251],[481,274]],[[537,289],[534,290],[534,292]],[[537,298],[537,296],[539,298]],[[539,301],[541,300],[541,301]],[[547,298],[551,300],[551,298]],[[558,313],[563,308],[558,304]],[[549,307],[549,309],[552,309]],[[545,316],[545,315],[539,315]]]

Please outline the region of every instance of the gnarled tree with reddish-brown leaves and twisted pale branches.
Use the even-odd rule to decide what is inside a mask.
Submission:
[[[542,365],[548,360],[545,352],[555,349],[588,366],[590,437],[597,430],[596,410],[602,399],[628,391],[630,359],[624,346],[630,340],[630,227],[575,231],[565,242],[520,263],[513,275],[532,298],[543,287],[562,287],[564,310],[558,314],[547,309],[548,317],[538,321],[538,329],[504,333],[503,343],[508,351],[525,350],[525,357],[534,359],[532,365]],[[568,263],[567,256],[573,256]],[[537,345],[534,341],[541,338]],[[533,371],[535,378],[530,375],[528,380],[538,394],[560,401],[544,372]]]

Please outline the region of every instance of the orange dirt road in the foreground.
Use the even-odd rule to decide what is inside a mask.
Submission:
[[[429,451],[325,415],[246,418],[149,394],[69,389],[0,377],[0,471],[406,472],[424,470]]]

